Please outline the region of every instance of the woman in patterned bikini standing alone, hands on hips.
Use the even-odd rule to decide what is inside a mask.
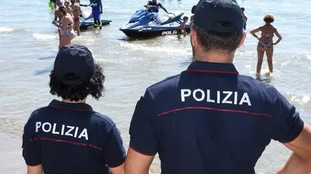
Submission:
[[[270,73],[273,73],[273,64],[272,64],[272,57],[273,57],[273,45],[277,45],[278,42],[282,40],[281,35],[278,33],[278,30],[271,25],[273,23],[274,17],[271,14],[264,16],[265,25],[256,28],[255,30],[251,30],[251,35],[256,37],[259,42],[257,45],[257,54],[258,54],[258,61],[257,61],[257,68],[256,68],[256,75],[260,75],[261,65],[264,59],[264,52],[266,52],[268,68]],[[258,37],[256,33],[261,32],[261,37]],[[276,34],[278,40],[273,43],[273,34]]]

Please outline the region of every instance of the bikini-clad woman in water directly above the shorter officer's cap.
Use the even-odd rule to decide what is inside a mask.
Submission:
[[[60,11],[62,12],[62,15],[64,16],[62,18],[62,22],[60,23],[60,45],[58,46],[58,49],[60,49],[64,45],[71,44],[72,40],[75,37],[74,34],[74,18],[67,13],[66,7],[60,6]]]

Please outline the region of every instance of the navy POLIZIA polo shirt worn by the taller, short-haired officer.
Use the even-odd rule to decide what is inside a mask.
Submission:
[[[130,123],[130,147],[159,153],[163,174],[249,174],[271,139],[293,141],[304,122],[273,86],[233,64],[193,62],[150,86]]]

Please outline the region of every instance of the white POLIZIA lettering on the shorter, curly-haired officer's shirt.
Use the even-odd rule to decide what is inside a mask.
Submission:
[[[60,134],[63,136],[70,136],[74,138],[89,140],[89,136],[87,134],[87,129],[80,129],[79,127],[68,126],[64,124],[51,124],[50,122],[35,122],[35,132],[40,131],[51,133],[51,134]]]

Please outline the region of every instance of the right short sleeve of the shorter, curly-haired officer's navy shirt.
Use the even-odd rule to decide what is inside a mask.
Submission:
[[[118,167],[125,162],[126,151],[123,146],[120,132],[115,126],[113,126],[108,133],[103,156],[107,166],[110,168]]]

